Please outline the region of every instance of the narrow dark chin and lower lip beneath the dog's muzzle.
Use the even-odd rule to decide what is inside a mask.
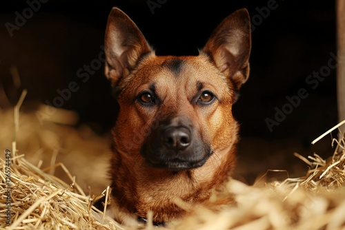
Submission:
[[[150,160],[150,158],[146,157],[146,163],[148,163],[150,167],[154,167],[157,169],[183,171],[183,170],[195,169],[195,168],[203,166],[209,157],[210,157],[210,154],[207,154],[206,156],[204,156],[204,158],[197,161],[181,160],[177,158],[177,159],[159,161],[159,162],[155,160]]]

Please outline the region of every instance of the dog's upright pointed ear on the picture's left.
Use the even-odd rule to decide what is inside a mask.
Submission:
[[[104,50],[106,76],[113,87],[135,67],[140,56],[152,51],[137,25],[119,8],[112,8],[109,14]]]

